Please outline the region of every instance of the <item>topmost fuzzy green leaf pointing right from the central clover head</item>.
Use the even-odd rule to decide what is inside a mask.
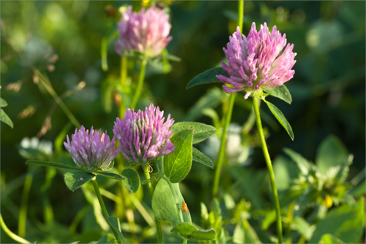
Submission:
[[[170,128],[174,130],[172,135],[175,135],[185,129],[194,129],[192,140],[193,144],[202,142],[217,132],[215,127],[198,122],[178,122],[173,124]]]

